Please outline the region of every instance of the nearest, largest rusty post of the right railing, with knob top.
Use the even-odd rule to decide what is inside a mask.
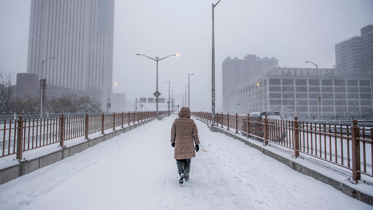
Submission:
[[[357,120],[352,120],[351,126],[352,137],[352,179],[358,181],[361,179],[360,174],[360,127],[357,126]]]

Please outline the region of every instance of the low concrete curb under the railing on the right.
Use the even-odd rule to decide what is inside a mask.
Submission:
[[[314,169],[310,169],[309,167],[306,167],[302,165],[301,163],[294,161],[294,160],[297,160],[296,158],[292,159],[291,157],[285,157],[285,156],[276,154],[275,152],[272,152],[266,149],[266,146],[259,146],[257,144],[250,142],[246,137],[235,135],[233,132],[226,131],[225,129],[222,129],[220,127],[211,127],[211,125],[207,123],[206,121],[203,121],[203,120],[200,120],[200,121],[203,123],[206,123],[212,132],[223,133],[226,136],[232,137],[233,139],[240,140],[241,142],[244,142],[245,145],[248,145],[252,148],[255,148],[263,152],[263,154],[268,155],[269,157],[272,157],[275,160],[278,160],[279,162],[285,164],[286,166],[290,167],[293,170],[296,170],[299,173],[302,173],[307,176],[311,176],[314,179],[319,180],[320,182],[323,182],[327,185],[330,185],[333,188],[343,192],[344,194],[352,198],[355,198],[356,200],[362,201],[366,204],[373,206],[373,196],[366,194],[364,192],[358,191],[357,189],[354,188],[355,185],[353,183],[348,182],[347,180],[344,183],[343,181],[339,181],[332,177],[323,175],[322,173]],[[301,158],[298,158],[298,159],[301,159]]]

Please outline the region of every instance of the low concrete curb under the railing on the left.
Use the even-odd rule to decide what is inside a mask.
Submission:
[[[163,117],[164,116],[162,116],[162,118]],[[97,138],[87,139],[86,142],[82,142],[82,143],[79,143],[79,144],[76,144],[70,147],[60,147],[60,149],[57,151],[51,152],[46,155],[42,155],[37,158],[33,158],[32,160],[22,160],[21,162],[17,161],[12,166],[8,166],[3,169],[0,169],[0,184],[9,182],[10,180],[16,179],[22,175],[34,172],[35,170],[38,170],[50,164],[56,163],[57,161],[70,157],[78,152],[82,152],[85,149],[92,147],[94,145],[97,145],[100,142],[103,142],[107,139],[111,139],[115,136],[120,135],[121,133],[128,132],[132,129],[135,129],[138,126],[142,126],[153,120],[154,119],[150,119],[147,121],[142,121],[140,123],[132,124],[130,126],[120,128],[113,132],[100,135]],[[158,120],[160,119],[158,118]]]

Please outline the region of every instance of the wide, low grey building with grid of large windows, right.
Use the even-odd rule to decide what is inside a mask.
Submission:
[[[318,77],[320,116],[373,115],[372,77],[342,77],[336,69],[319,69]],[[317,118],[316,86],[316,68],[274,68],[229,93],[225,110],[232,114],[279,111],[286,119]]]

